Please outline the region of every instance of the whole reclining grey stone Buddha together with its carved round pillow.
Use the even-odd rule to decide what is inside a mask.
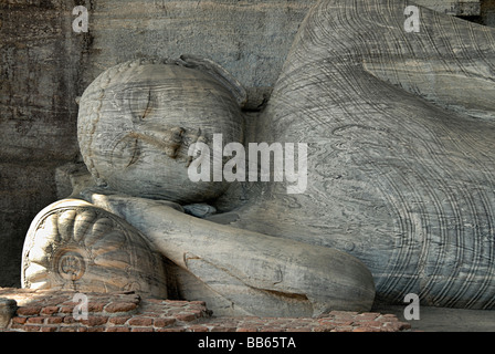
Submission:
[[[23,287],[135,289],[235,315],[368,311],[408,293],[493,309],[495,30],[418,7],[409,32],[410,4],[319,1],[257,114],[207,59],[102,73],[77,123],[94,186],[33,221]],[[225,146],[262,142],[306,146],[304,188],[242,178],[257,165]],[[206,159],[239,178],[192,180]]]

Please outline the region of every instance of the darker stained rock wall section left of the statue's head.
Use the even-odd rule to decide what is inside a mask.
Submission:
[[[54,169],[78,154],[72,1],[0,2],[0,284],[20,285],[31,220],[56,200]]]

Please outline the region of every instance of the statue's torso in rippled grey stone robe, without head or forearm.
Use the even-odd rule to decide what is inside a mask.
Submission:
[[[310,11],[257,127],[309,145],[306,192],[250,189],[231,226],[347,251],[388,302],[493,309],[495,31],[422,9],[407,33],[407,4]]]

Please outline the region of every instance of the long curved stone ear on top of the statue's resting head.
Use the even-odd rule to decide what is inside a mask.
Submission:
[[[200,70],[217,79],[232,93],[241,108],[243,108],[247,102],[247,94],[241,83],[231,73],[215,62],[206,58],[185,54],[180,55],[180,60],[177,64]]]

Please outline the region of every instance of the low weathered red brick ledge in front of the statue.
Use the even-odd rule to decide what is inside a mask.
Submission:
[[[0,332],[400,332],[391,314],[333,311],[318,317],[215,317],[202,301],[141,299],[134,292],[85,293],[87,319],[74,317],[76,292],[0,288],[18,303]]]

